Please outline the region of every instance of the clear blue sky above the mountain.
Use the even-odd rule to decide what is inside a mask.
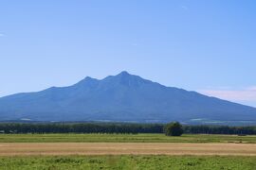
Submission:
[[[254,0],[2,0],[0,96],[126,70],[256,107]]]

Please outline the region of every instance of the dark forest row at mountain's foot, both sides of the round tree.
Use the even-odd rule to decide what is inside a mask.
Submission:
[[[163,133],[164,126],[124,123],[2,123],[0,133]],[[183,129],[187,134],[256,134],[256,127],[183,126]]]

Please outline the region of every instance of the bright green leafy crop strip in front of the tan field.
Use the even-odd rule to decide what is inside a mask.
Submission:
[[[255,170],[256,157],[69,156],[2,157],[0,169]]]

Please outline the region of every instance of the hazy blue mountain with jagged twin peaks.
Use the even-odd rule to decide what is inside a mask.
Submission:
[[[0,121],[256,121],[256,109],[122,72],[0,98]]]

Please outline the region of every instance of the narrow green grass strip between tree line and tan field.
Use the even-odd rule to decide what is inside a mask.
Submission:
[[[0,143],[256,143],[256,136],[184,134],[0,134]]]

